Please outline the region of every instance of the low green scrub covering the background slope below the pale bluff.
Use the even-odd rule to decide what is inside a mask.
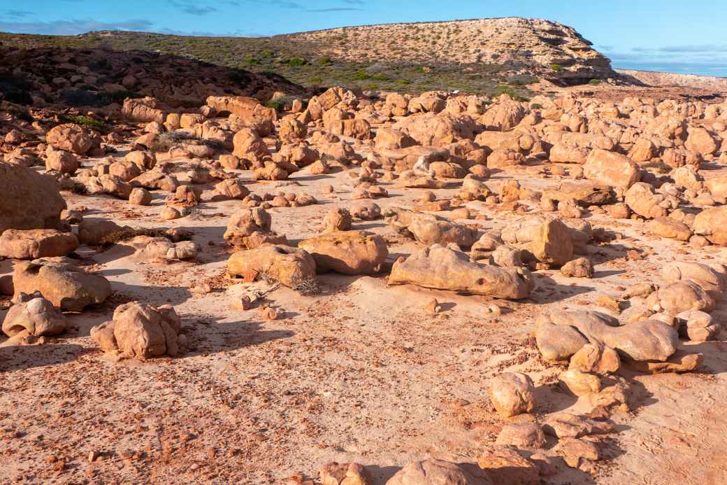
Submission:
[[[427,90],[460,90],[482,95],[497,95],[502,85],[508,92],[526,98],[526,84],[537,78],[518,79],[508,76],[513,66],[497,63],[430,64],[389,62],[373,58],[366,62],[348,62],[329,55],[318,54],[313,43],[288,42],[285,36],[266,38],[170,36],[159,33],[113,32],[87,33],[80,36],[36,36],[0,33],[0,42],[17,47],[107,47],[113,50],[147,50],[182,55],[230,68],[259,73],[274,73],[305,87],[339,85],[349,89],[391,90],[417,93]],[[344,41],[342,41],[344,42]],[[108,66],[103,62],[89,66],[100,71]],[[241,71],[244,76],[244,71]],[[4,82],[0,79],[0,84]],[[18,90],[23,92],[23,90]],[[138,92],[103,92],[97,99],[74,101],[73,95],[64,102],[70,106],[108,104],[124,98],[139,98]],[[20,94],[19,94],[20,95]]]

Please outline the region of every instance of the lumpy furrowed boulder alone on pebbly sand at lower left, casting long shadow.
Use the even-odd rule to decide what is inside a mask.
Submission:
[[[180,352],[181,321],[171,305],[152,307],[131,301],[116,307],[113,320],[91,329],[91,336],[105,351],[147,359]]]

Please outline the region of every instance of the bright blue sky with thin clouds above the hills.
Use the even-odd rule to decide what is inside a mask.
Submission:
[[[479,17],[571,25],[614,66],[727,76],[727,1],[0,0],[0,31],[135,30],[262,36]]]

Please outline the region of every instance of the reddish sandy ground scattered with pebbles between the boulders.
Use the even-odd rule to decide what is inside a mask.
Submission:
[[[498,173],[489,186],[497,189],[513,176],[531,189],[558,184],[521,170]],[[318,205],[270,210],[273,229],[296,242],[318,232],[327,210],[349,204],[353,183],[347,172],[310,176],[307,170],[292,180],[300,185],[276,189],[276,183],[251,183],[249,189],[318,198]],[[334,194],[321,193],[327,184],[336,187]],[[382,207],[414,205],[423,192],[383,185],[391,197],[377,200]],[[446,198],[454,192],[437,194]],[[232,309],[226,293],[235,282],[224,275],[232,250],[222,233],[241,202],[203,202],[190,216],[164,223],[158,218],[160,193],[149,207],[133,208],[111,197],[64,195],[69,208],[87,207],[86,217],[191,229],[201,251],[196,261],[163,265],[141,264],[124,245],[79,248],[84,262],[111,281],[114,293],[103,307],[69,314],[71,331],[46,344],[0,347],[3,483],[280,484],[294,473],[316,478],[318,466],[335,460],[369,466],[381,485],[411,460],[476,461],[505,425],[487,396],[489,379],[499,372],[526,372],[537,385],[536,411],[515,420],[574,406],[557,385],[562,368],[546,365],[529,342],[540,312],[597,309],[594,301],[603,293],[618,296],[632,283],[658,282],[668,261],[722,261],[727,254],[727,248],[696,250],[659,240],[645,235],[638,222],[594,214],[587,218],[594,227],[623,237],[588,247],[593,280],[539,271],[531,299],[497,301],[504,310],[499,318],[486,313],[491,301],[480,296],[387,287],[384,276],[325,275],[318,296],[285,288],[270,293],[283,315],[263,321],[258,309]],[[521,216],[479,202],[469,207],[486,216],[467,221],[481,229]],[[529,213],[535,212],[532,206]],[[382,221],[355,226],[382,234],[391,259],[418,247]],[[630,249],[644,259],[627,256]],[[10,262],[0,261],[0,275],[10,271]],[[201,282],[212,292],[190,289]],[[432,297],[443,305],[439,315],[425,311]],[[110,319],[116,304],[136,299],[173,304],[190,352],[146,362],[116,361],[100,352],[89,328]],[[724,306],[713,315],[722,320]],[[561,473],[548,483],[725,483],[727,343],[685,347],[704,353],[699,371],[657,376],[624,371],[632,412],[615,414],[618,432],[598,437],[606,459],[593,475],[559,462]],[[89,454],[97,458],[91,462]]]

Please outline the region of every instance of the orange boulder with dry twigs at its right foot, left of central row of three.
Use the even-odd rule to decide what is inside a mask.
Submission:
[[[289,288],[316,280],[316,261],[307,251],[286,245],[263,245],[236,251],[228,259],[230,275],[264,274]]]

